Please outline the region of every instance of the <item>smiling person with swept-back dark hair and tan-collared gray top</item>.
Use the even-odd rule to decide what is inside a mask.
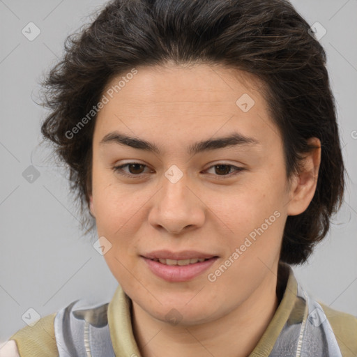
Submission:
[[[344,192],[326,55],[290,3],[112,1],[45,86],[43,135],[119,287],[6,348],[357,354],[356,317],[314,301],[290,267],[326,236]]]

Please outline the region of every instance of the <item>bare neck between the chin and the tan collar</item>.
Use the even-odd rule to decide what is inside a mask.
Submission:
[[[271,274],[229,314],[195,326],[172,326],[132,302],[132,328],[142,357],[247,357],[278,308],[276,275]]]

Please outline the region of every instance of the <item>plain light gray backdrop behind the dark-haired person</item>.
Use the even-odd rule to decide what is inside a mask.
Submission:
[[[38,143],[46,112],[36,105],[38,82],[61,56],[64,39],[103,3],[0,0],[0,342],[26,326],[22,315],[30,307],[43,317],[84,296],[109,301],[116,289],[93,249],[96,237],[81,236],[66,175],[43,164],[46,151]],[[309,24],[319,22],[327,30],[320,42],[328,55],[350,178],[330,233],[308,264],[294,271],[319,301],[357,315],[357,1],[292,3]],[[41,31],[33,41],[22,34],[29,22]],[[22,176],[31,164],[40,173],[33,183]]]

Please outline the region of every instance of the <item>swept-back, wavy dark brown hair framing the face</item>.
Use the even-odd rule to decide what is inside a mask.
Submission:
[[[284,0],[115,0],[66,39],[63,59],[43,83],[51,112],[43,135],[70,170],[70,187],[88,215],[95,116],[74,137],[106,84],[139,66],[222,64],[264,83],[271,118],[284,142],[287,177],[321,140],[317,189],[305,212],[289,216],[280,260],[301,264],[326,236],[342,203],[344,164],[326,54],[310,26]],[[67,133],[67,135],[66,135]],[[90,216],[89,216],[90,217]],[[93,220],[91,220],[94,224]]]

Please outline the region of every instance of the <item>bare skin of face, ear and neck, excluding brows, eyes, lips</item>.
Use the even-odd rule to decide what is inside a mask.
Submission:
[[[305,211],[314,195],[321,149],[306,155],[303,169],[289,181],[279,130],[253,75],[206,64],[137,70],[96,119],[90,208],[98,236],[112,244],[104,255],[109,269],[132,299],[140,352],[143,357],[248,356],[278,307],[284,224],[288,215]],[[243,93],[255,100],[248,112],[236,105]],[[114,131],[151,142],[160,153],[100,144]],[[187,152],[190,144],[232,132],[259,144]],[[310,142],[320,144],[316,138]],[[113,169],[129,162],[146,166],[123,167],[131,177]],[[215,169],[218,164],[233,167],[225,173]],[[176,183],[165,176],[172,165],[183,174]],[[276,211],[280,217],[210,282],[208,273]],[[140,257],[158,249],[219,258],[193,280],[167,282]],[[173,308],[181,316],[176,325],[165,318]]]

